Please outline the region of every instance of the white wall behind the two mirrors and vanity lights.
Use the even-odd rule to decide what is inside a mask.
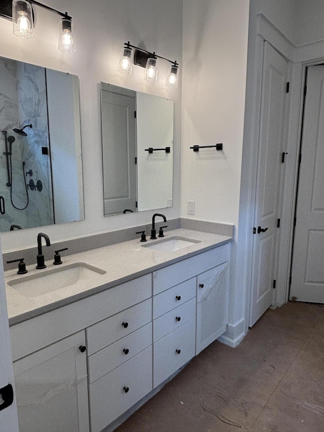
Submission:
[[[34,6],[35,37],[21,40],[12,34],[12,23],[0,18],[0,55],[78,75],[84,168],[85,220],[43,227],[52,242],[147,223],[152,212],[103,216],[102,150],[100,126],[100,81],[175,101],[174,207],[165,209],[168,219],[179,216],[181,82],[178,89],[165,87],[169,64],[160,62],[157,83],[143,80],[143,70],[133,68],[125,76],[116,71],[124,42],[155,51],[180,62],[182,56],[181,0],[119,0],[86,2],[51,0],[49,6],[67,11],[76,27],[77,51],[65,54],[57,49],[60,17]],[[39,228],[3,233],[3,251],[36,245]]]

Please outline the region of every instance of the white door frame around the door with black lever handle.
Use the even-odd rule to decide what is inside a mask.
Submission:
[[[290,98],[287,100],[286,114],[286,148],[284,147],[288,154],[285,160],[286,169],[282,174],[281,183],[280,228],[278,228],[280,232],[276,245],[277,283],[273,294],[272,307],[286,303],[289,296],[305,70],[308,65],[322,61],[322,57],[320,59],[317,57],[316,62],[311,60],[315,58],[311,49],[306,52],[307,50],[305,51],[304,46],[297,47],[294,45],[262,12],[250,11],[246,115],[242,152],[236,267],[236,288],[242,283],[244,284],[241,288],[245,293],[245,332],[249,329],[250,298],[253,281],[252,233],[256,204],[262,63],[265,41],[289,62],[288,79],[290,82]],[[306,54],[309,58],[307,58]]]

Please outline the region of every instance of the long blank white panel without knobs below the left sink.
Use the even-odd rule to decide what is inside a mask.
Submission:
[[[27,356],[151,297],[152,276],[145,274],[16,324],[10,327],[13,360]]]

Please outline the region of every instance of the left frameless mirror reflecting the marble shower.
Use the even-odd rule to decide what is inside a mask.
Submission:
[[[0,57],[0,230],[84,219],[78,77]]]

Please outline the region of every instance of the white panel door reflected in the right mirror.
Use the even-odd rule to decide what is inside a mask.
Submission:
[[[101,85],[105,215],[136,211],[135,98]]]

